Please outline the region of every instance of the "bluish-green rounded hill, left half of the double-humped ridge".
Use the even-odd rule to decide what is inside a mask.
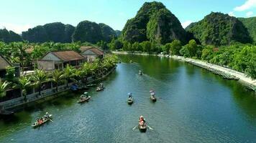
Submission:
[[[75,27],[72,25],[55,22],[23,31],[22,38],[35,43],[45,41],[68,43],[72,41],[71,36],[74,31]]]

